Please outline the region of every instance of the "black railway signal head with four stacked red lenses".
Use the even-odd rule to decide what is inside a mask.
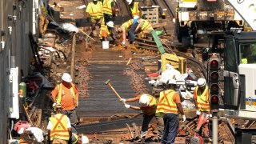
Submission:
[[[210,58],[210,107],[211,110],[218,110],[218,94],[219,94],[219,62],[218,58]]]

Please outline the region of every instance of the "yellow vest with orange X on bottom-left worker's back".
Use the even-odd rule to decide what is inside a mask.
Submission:
[[[67,121],[68,118],[64,114],[55,114],[49,118],[52,123],[52,130],[50,130],[50,140],[54,140],[54,138],[69,140],[70,134],[67,130]]]

